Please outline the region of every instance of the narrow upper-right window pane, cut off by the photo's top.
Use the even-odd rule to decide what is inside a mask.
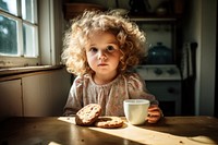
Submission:
[[[22,16],[24,20],[34,23],[34,0],[22,0]]]

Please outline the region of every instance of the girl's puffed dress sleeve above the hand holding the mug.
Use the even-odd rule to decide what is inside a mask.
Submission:
[[[131,99],[148,99],[152,105],[158,105],[156,97],[148,93],[145,81],[137,73],[128,76],[128,88]]]

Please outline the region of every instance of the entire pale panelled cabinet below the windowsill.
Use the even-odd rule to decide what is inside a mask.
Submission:
[[[61,116],[71,87],[65,68],[5,76],[0,82],[0,120]]]

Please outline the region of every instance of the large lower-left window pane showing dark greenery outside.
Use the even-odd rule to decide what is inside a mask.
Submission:
[[[17,22],[0,15],[0,53],[17,55]]]

